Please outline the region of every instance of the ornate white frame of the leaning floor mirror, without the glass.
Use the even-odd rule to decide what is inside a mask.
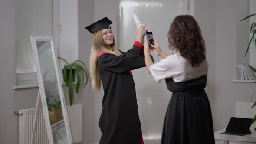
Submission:
[[[47,105],[47,101],[46,101],[45,88],[43,85],[43,77],[41,74],[41,69],[40,69],[40,64],[39,64],[39,56],[38,56],[36,41],[49,41],[51,43],[51,49],[52,49],[52,54],[53,54],[53,61],[54,61],[54,66],[55,66],[56,79],[57,79],[58,90],[59,90],[59,97],[60,97],[60,101],[61,101],[62,115],[63,115],[64,124],[65,124],[65,128],[66,128],[67,140],[68,140],[68,144],[73,144],[70,126],[69,126],[67,108],[66,108],[66,103],[65,103],[65,97],[64,97],[63,87],[62,87],[62,81],[60,79],[59,63],[57,60],[56,50],[54,48],[54,43],[53,43],[53,36],[30,36],[30,39],[31,39],[33,55],[34,55],[34,59],[35,59],[35,63],[36,63],[36,75],[37,75],[37,79],[38,79],[39,91],[40,91],[41,101],[42,101],[42,106],[43,106],[43,115],[44,115],[44,120],[45,120],[45,124],[46,124],[46,131],[47,131],[49,144],[54,144],[54,141],[53,141],[52,128],[51,128],[50,119],[49,119],[49,111],[48,111],[48,105]]]

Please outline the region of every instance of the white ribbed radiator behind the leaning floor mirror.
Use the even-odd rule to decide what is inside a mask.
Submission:
[[[19,116],[19,144],[30,144],[36,108],[22,109]],[[82,142],[82,104],[67,106],[69,125],[73,143]],[[34,133],[35,144],[49,144],[43,109],[38,109],[38,117]]]

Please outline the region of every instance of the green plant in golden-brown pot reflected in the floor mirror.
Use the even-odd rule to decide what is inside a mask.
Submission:
[[[58,100],[54,99],[50,101],[48,97],[46,97],[46,101],[48,105],[50,123],[53,125],[63,119],[61,102],[59,98]]]

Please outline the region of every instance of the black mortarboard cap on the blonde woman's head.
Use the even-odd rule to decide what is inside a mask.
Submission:
[[[103,19],[98,20],[89,26],[86,26],[85,29],[87,29],[92,34],[95,34],[102,29],[111,29],[111,27],[109,27],[110,24],[112,24],[112,21],[107,17],[104,17]]]

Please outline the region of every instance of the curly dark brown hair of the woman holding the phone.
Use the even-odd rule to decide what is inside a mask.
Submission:
[[[205,58],[205,43],[201,29],[193,16],[174,18],[168,32],[169,47],[180,52],[192,67],[197,67]]]

